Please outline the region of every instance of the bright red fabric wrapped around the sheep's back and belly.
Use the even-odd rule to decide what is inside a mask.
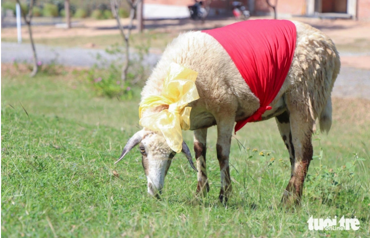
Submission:
[[[296,28],[287,20],[248,20],[221,28],[203,30],[216,39],[230,55],[260,108],[235,125],[235,132],[247,122],[259,121],[276,97],[292,63]]]

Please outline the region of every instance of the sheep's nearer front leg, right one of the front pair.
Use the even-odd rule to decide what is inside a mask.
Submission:
[[[232,190],[229,169],[229,154],[234,121],[234,119],[229,118],[222,118],[222,120],[217,121],[218,134],[216,149],[221,172],[221,190],[219,199],[223,204],[227,203]]]

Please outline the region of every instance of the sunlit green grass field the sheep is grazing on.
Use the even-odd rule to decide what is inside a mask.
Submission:
[[[290,162],[273,120],[232,140],[227,208],[218,201],[215,127],[208,196],[196,197],[196,173],[176,155],[162,200],[149,197],[138,149],[113,164],[139,129],[140,88],[133,92],[130,101],[96,97],[78,72],[31,79],[2,65],[2,237],[369,237],[369,101],[333,100],[329,135],[314,136],[302,206],[286,211]],[[192,132],[184,139],[191,145]],[[308,229],[311,216],[335,215],[356,216],[360,229]]]

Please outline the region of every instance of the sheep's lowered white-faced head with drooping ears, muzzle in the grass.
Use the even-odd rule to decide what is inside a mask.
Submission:
[[[159,193],[162,191],[168,168],[176,152],[171,150],[160,132],[142,129],[130,138],[121,156],[115,163],[124,158],[138,144],[142,156],[142,165],[148,181],[148,193],[158,198]],[[189,147],[185,142],[182,142],[181,152],[186,155],[190,165],[197,171]]]

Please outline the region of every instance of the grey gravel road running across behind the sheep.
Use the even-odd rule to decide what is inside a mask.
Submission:
[[[18,62],[31,61],[32,50],[29,44],[2,42],[1,61]],[[99,63],[97,55],[100,54],[107,60],[115,59],[114,56],[101,49],[63,48],[46,45],[36,45],[38,58],[43,63],[56,60],[57,63],[67,66],[92,66]],[[160,59],[160,54],[150,53],[143,60],[143,64],[154,66]],[[370,70],[345,67],[341,69],[333,89],[335,97],[361,97],[370,99]]]

